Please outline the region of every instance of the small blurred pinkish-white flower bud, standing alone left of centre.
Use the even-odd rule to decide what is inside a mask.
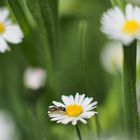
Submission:
[[[45,85],[46,72],[41,68],[27,68],[24,73],[25,87],[37,90]]]

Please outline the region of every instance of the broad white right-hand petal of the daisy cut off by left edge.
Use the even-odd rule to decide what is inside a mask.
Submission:
[[[10,25],[6,27],[3,37],[10,43],[18,44],[22,42],[23,34],[17,25]]]

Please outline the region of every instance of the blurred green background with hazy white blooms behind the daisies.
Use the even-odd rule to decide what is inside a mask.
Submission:
[[[53,100],[76,92],[98,101],[98,115],[80,125],[83,139],[120,140],[122,48],[100,31],[110,1],[0,0],[5,6],[24,41],[0,54],[0,140],[76,140],[74,126],[50,122],[47,114]],[[137,54],[140,114],[139,49]]]

